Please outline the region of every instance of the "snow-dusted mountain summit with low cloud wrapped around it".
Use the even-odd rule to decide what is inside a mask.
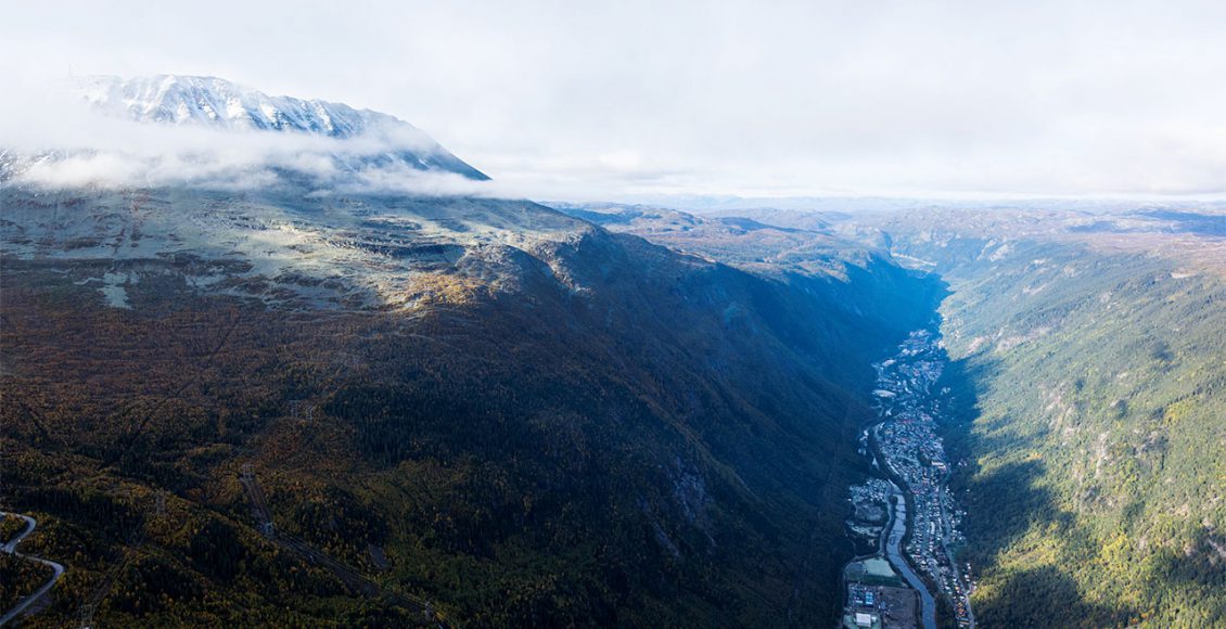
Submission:
[[[92,107],[65,112],[45,142],[0,147],[0,179],[397,194],[481,194],[472,184],[489,179],[413,125],[342,103],[199,76],[88,77],[74,88]]]

